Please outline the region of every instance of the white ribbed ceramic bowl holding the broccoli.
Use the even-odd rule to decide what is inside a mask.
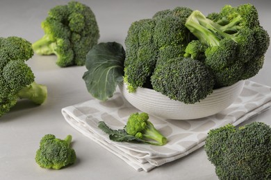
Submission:
[[[190,105],[170,100],[153,89],[138,88],[136,93],[129,93],[125,83],[119,87],[124,98],[140,111],[167,119],[187,120],[211,116],[227,108],[240,95],[244,84],[245,81],[239,81],[229,87],[215,89],[204,100]]]

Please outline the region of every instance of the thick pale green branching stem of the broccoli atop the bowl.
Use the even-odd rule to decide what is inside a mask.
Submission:
[[[225,37],[235,41],[233,35],[225,32],[236,30],[236,24],[238,24],[239,21],[240,17],[236,17],[231,23],[220,26],[220,24],[215,23],[211,19],[207,19],[199,10],[195,10],[188,19],[186,19],[185,25],[202,44],[206,44],[207,46],[219,46],[220,40]]]

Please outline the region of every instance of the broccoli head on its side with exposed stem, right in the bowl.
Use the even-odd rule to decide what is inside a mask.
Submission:
[[[270,37],[260,26],[258,12],[251,4],[236,8],[227,5],[207,17],[195,10],[185,25],[202,46],[207,46],[205,51],[191,51],[201,45],[190,42],[185,56],[205,56],[204,64],[215,75],[215,88],[252,78],[262,68]]]

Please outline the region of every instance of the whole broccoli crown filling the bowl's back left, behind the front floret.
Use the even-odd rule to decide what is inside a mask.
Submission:
[[[124,62],[124,81],[130,92],[149,84],[158,59],[167,60],[185,53],[189,37],[193,37],[184,26],[191,13],[190,8],[177,7],[131,24],[125,39]]]

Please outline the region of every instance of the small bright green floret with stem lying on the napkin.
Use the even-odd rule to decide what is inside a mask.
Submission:
[[[158,132],[149,121],[149,115],[145,112],[131,114],[126,123],[125,131],[153,145],[165,145],[167,143],[167,138]]]

